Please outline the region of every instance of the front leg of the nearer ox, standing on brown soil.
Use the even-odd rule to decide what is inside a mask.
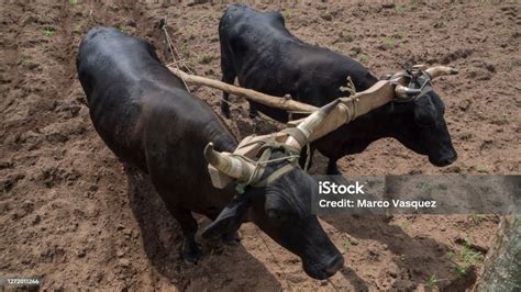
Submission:
[[[170,213],[181,225],[184,242],[182,242],[182,258],[186,263],[193,265],[202,256],[202,250],[196,242],[197,221],[191,215],[191,212],[185,209],[175,209]]]

